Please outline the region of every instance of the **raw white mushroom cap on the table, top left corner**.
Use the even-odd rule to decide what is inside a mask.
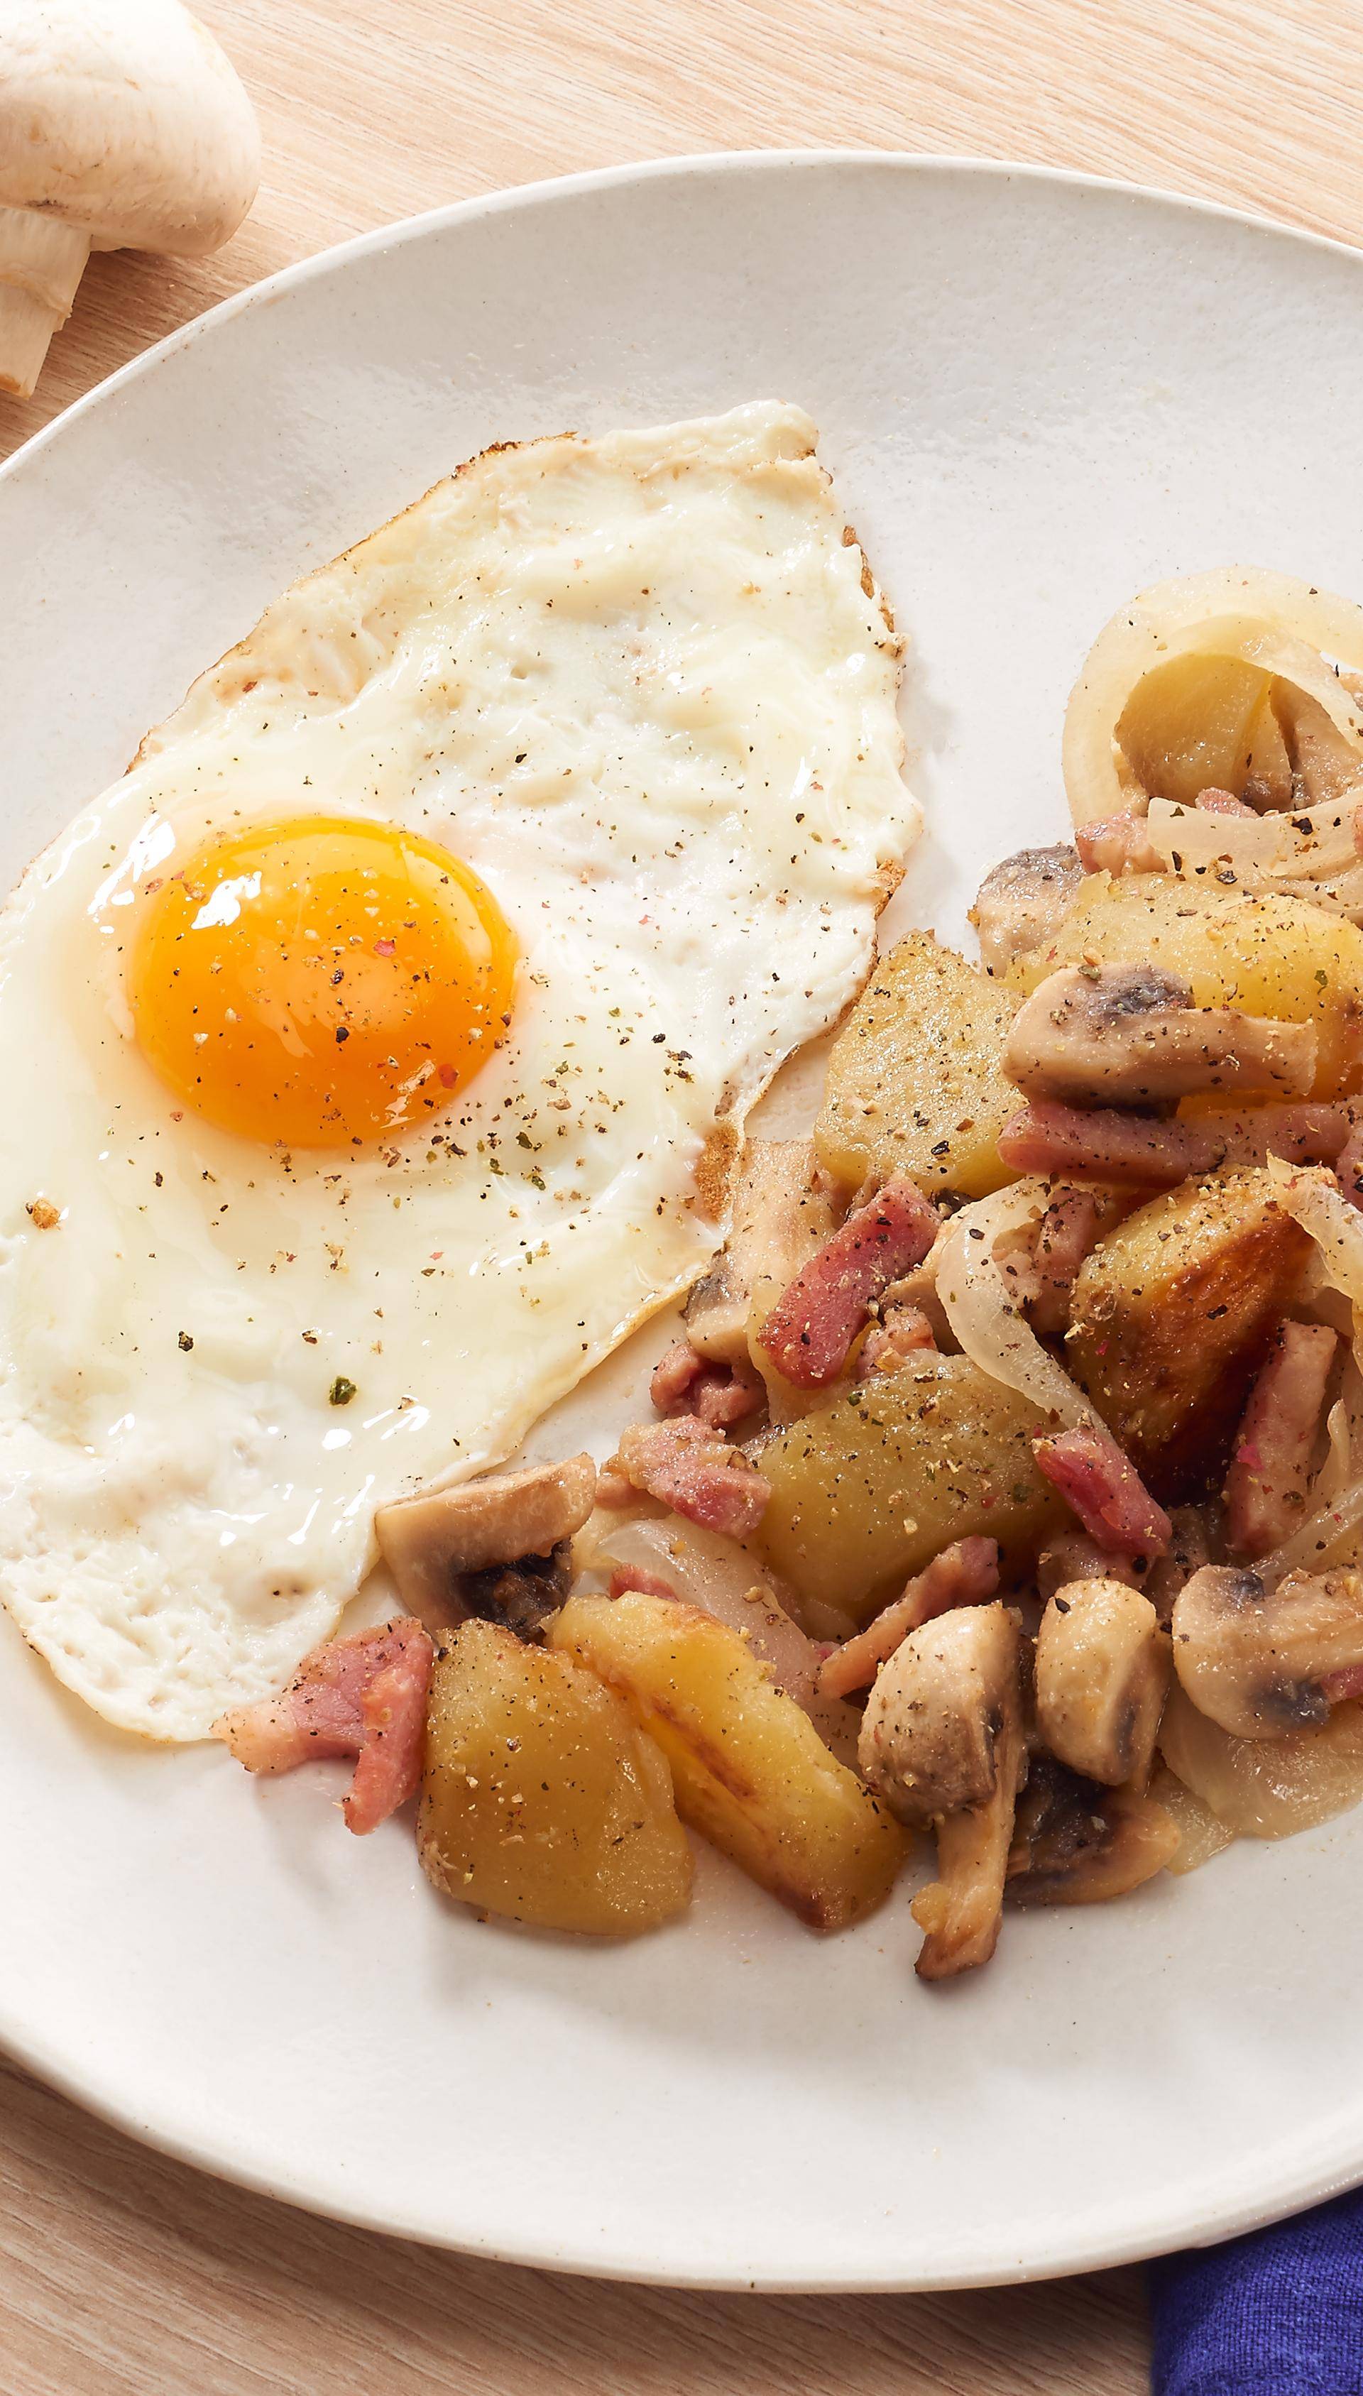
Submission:
[[[96,249],[196,259],[261,180],[235,67],[180,0],[7,0],[0,204],[84,228]]]

